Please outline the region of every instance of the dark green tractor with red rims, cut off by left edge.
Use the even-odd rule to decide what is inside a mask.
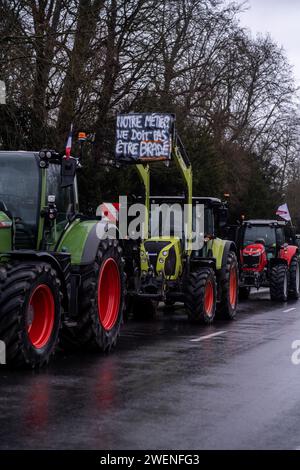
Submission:
[[[83,137],[84,138],[84,137]],[[0,152],[0,340],[12,367],[63,347],[110,350],[124,306],[122,250],[107,221],[79,212],[80,160]]]

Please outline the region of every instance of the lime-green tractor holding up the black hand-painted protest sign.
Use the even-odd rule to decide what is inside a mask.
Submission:
[[[216,313],[229,319],[236,315],[236,246],[216,236],[214,221],[226,212],[221,201],[192,197],[192,167],[174,120],[173,115],[145,113],[118,118],[117,162],[135,164],[146,206],[139,249],[133,251],[132,267],[128,269],[127,263],[126,268],[128,309],[136,318],[145,318],[154,315],[159,301],[172,305],[178,300],[184,302],[190,320],[211,324]],[[150,165],[161,160],[167,166],[171,160],[176,163],[185,183],[183,197],[150,196]],[[158,206],[159,212],[162,204],[169,207],[169,217],[163,214],[154,221],[153,210]],[[184,216],[177,218],[174,213],[182,214],[183,209]],[[197,233],[201,217],[202,232]],[[167,222],[165,235],[161,226]],[[202,243],[194,243],[195,234]]]

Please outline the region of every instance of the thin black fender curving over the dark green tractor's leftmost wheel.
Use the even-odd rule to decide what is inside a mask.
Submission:
[[[68,311],[69,308],[69,296],[68,296],[68,279],[69,279],[69,271],[70,271],[70,257],[66,255],[64,259],[64,266],[62,263],[59,262],[59,259],[56,258],[51,253],[47,251],[34,251],[34,250],[16,250],[10,251],[7,255],[12,260],[18,261],[44,261],[45,263],[50,264],[53,269],[58,274],[58,278],[61,283],[61,291],[63,294],[62,298],[62,305],[65,311]]]

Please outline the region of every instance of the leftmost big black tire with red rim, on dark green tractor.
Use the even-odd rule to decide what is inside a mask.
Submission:
[[[61,325],[60,281],[42,262],[7,265],[0,273],[0,339],[11,367],[38,368],[54,354]]]

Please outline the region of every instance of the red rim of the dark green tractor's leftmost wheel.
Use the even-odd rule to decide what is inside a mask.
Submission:
[[[28,304],[27,333],[36,349],[44,347],[53,331],[55,303],[52,291],[40,284],[32,292]]]

